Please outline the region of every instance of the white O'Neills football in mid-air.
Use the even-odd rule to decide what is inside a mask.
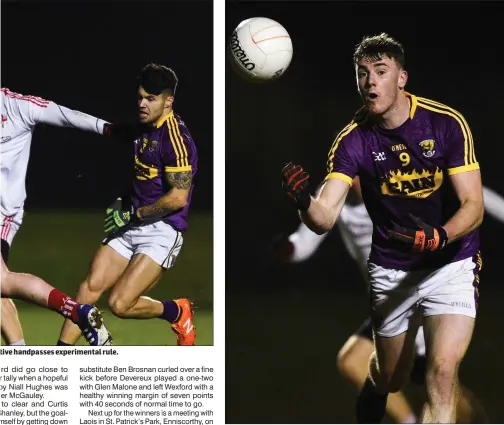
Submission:
[[[247,19],[234,30],[228,56],[242,77],[266,82],[280,77],[289,67],[292,40],[286,29],[272,19]]]

